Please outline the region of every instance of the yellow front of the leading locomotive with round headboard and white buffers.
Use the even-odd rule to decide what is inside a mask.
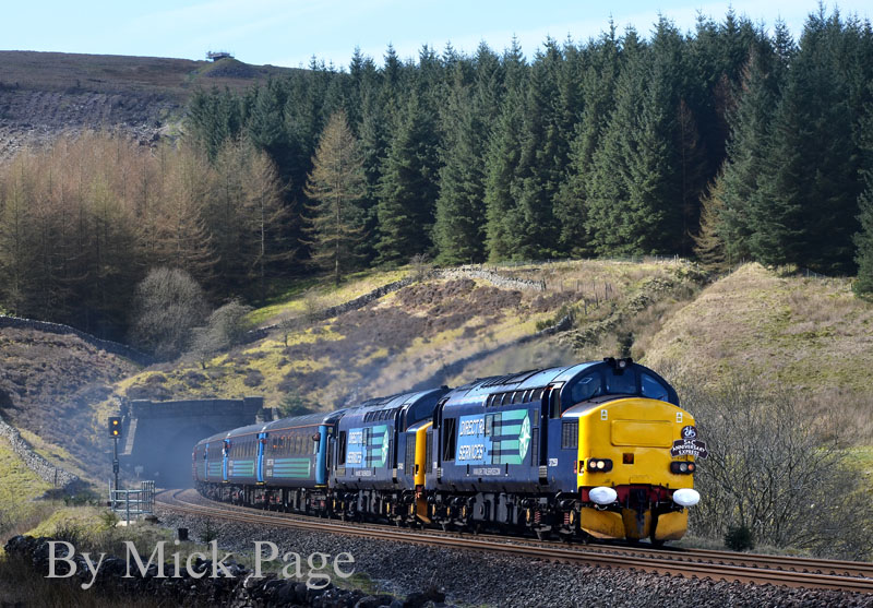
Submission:
[[[687,510],[699,500],[695,455],[706,455],[694,418],[638,396],[594,400],[567,417],[578,418],[581,528],[597,538],[681,538]]]

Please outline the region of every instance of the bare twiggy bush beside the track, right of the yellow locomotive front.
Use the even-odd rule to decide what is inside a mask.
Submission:
[[[863,491],[849,451],[822,425],[827,413],[798,394],[767,394],[733,378],[715,390],[681,381],[683,407],[710,455],[698,463],[703,497],[692,530],[721,539],[745,526],[758,544],[821,555],[873,555],[873,497]]]

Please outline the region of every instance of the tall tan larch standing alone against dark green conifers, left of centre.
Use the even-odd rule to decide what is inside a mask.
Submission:
[[[355,266],[355,250],[363,233],[358,206],[364,195],[363,160],[343,110],[324,128],[312,160],[306,194],[311,206],[312,260],[331,269],[334,283]]]

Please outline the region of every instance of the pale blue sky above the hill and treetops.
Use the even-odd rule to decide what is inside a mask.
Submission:
[[[629,24],[647,35],[658,14],[682,31],[697,13],[720,21],[728,2],[694,3],[528,0],[9,0],[3,2],[0,49],[139,55],[203,59],[229,50],[248,63],[298,67],[313,55],[347,65],[356,46],[382,61],[388,43],[403,58],[421,45],[441,51],[447,41],[473,51],[480,40],[497,51],[515,35],[530,57],[547,35],[586,40]],[[734,0],[733,10],[772,28],[777,17],[797,38],[813,0]],[[834,3],[827,3],[828,13]],[[844,16],[872,19],[869,0],[845,0]],[[2,65],[0,65],[2,74]]]

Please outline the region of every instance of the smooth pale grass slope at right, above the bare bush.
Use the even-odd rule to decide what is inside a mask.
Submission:
[[[853,296],[849,279],[746,264],[666,321],[643,362],[713,383],[753,375],[873,440],[873,305]]]

